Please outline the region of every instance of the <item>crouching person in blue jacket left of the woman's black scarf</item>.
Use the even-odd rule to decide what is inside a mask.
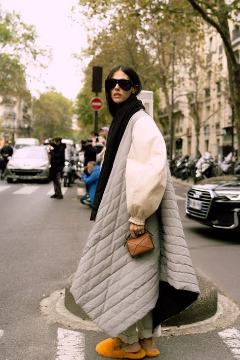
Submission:
[[[81,199],[83,204],[91,204],[93,206],[94,196],[97,188],[97,182],[100,175],[100,166],[96,165],[95,161],[89,161],[87,163],[87,175],[85,172],[82,172],[81,177],[83,179],[84,184],[86,185],[87,192],[90,197],[90,203],[87,201],[88,199]],[[84,196],[85,197],[85,196]]]

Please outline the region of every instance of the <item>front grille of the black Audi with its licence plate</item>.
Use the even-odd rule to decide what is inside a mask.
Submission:
[[[200,198],[194,197],[196,191],[202,193]],[[202,202],[201,210],[194,209],[188,206],[191,199]],[[201,189],[190,189],[187,194],[187,212],[190,215],[193,215],[197,218],[206,219],[208,216],[211,202],[212,202],[212,197],[209,191],[201,190]]]

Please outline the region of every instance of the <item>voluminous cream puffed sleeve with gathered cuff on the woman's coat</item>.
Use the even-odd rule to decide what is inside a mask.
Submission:
[[[144,225],[161,203],[167,182],[166,162],[164,138],[146,114],[133,127],[127,158],[126,195],[131,223]]]

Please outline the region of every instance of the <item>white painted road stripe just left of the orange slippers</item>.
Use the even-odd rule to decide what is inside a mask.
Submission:
[[[85,360],[85,336],[77,331],[58,328],[55,360]]]

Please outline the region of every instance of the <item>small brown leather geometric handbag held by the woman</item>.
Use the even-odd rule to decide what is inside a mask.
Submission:
[[[129,253],[132,258],[154,249],[154,244],[150,235],[152,235],[150,231],[145,230],[144,234],[138,235],[136,237],[131,237],[131,235],[129,235],[127,237],[124,246],[127,244]]]

